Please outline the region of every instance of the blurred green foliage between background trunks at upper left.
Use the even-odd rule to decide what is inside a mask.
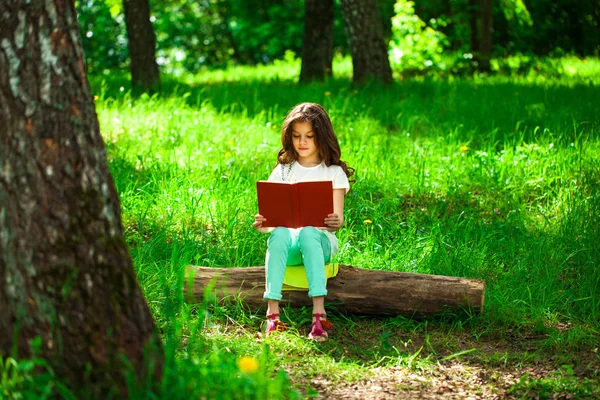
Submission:
[[[302,47],[303,2],[150,1],[150,11],[163,72],[268,63]],[[90,71],[124,68],[128,43],[120,1],[78,1],[77,12]],[[340,18],[338,10],[338,42],[345,43]]]

